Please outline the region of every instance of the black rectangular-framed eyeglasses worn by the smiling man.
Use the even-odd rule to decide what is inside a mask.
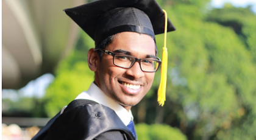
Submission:
[[[116,66],[119,66],[121,68],[132,68],[132,66],[135,64],[135,62],[139,62],[141,71],[144,72],[155,72],[161,65],[161,60],[158,57],[155,57],[155,59],[151,58],[136,58],[132,57],[130,55],[126,54],[116,54],[114,52],[107,51],[105,49],[95,49],[95,51],[101,51],[105,54],[112,55],[113,56],[113,63]]]

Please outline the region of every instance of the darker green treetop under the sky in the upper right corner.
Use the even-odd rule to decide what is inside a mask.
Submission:
[[[244,46],[251,53],[254,63],[256,63],[256,16],[250,11],[250,8],[242,9],[226,5],[224,9],[214,9],[206,20],[231,27],[243,41]]]

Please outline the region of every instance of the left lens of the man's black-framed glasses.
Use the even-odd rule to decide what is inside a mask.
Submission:
[[[115,65],[121,66],[123,68],[129,68],[130,65],[132,65],[134,60],[135,60],[134,58],[129,57],[127,55],[117,54],[115,55],[114,63]]]

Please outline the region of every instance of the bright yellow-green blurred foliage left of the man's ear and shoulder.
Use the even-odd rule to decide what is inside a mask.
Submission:
[[[62,60],[56,70],[55,80],[49,86],[44,97],[49,117],[58,113],[65,105],[74,100],[82,91],[89,88],[94,73],[87,65],[87,52],[92,45],[90,37],[81,32],[77,50]]]

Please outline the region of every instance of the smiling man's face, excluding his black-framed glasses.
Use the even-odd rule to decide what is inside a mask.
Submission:
[[[118,33],[118,36],[105,49],[116,53],[126,51],[129,55],[137,58],[155,56],[153,38],[135,32]],[[129,110],[148,93],[154,75],[154,72],[141,71],[138,62],[130,69],[115,66],[113,56],[104,54],[95,72],[95,82],[108,97]],[[130,85],[137,86],[138,89],[133,89]]]

